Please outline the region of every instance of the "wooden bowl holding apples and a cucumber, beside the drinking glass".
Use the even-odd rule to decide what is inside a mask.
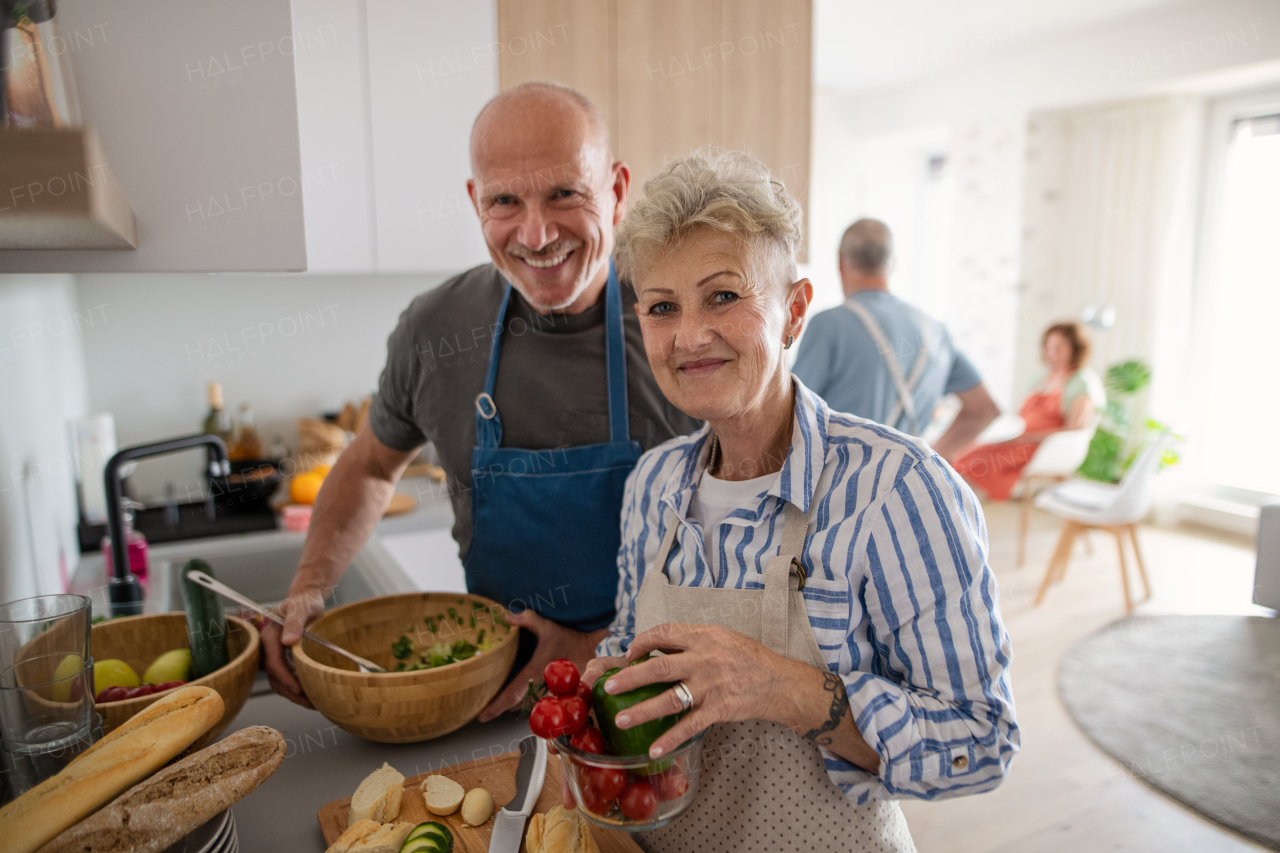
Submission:
[[[236,715],[244,707],[250,690],[253,688],[253,679],[257,676],[257,629],[237,616],[227,617],[227,651],[230,654],[230,663],[189,681],[189,684],[218,690],[219,695],[223,697],[224,706],[223,719],[197,743],[212,743],[223,729],[230,725]],[[165,652],[175,648],[191,648],[191,640],[187,637],[187,615],[182,612],[148,613],[111,619],[93,625],[92,643],[95,661],[118,658],[142,675],[151,666],[151,662]],[[97,712],[102,715],[102,733],[111,731],[142,708],[172,692],[163,690],[151,695],[140,695],[136,699],[95,704]]]

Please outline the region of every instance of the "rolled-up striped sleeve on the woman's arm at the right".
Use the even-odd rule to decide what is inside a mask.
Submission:
[[[933,456],[868,514],[860,598],[877,660],[842,676],[854,722],[888,795],[989,790],[1020,734],[980,508]]]

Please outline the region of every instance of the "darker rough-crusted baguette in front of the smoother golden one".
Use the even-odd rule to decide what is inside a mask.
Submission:
[[[266,781],[284,751],[275,729],[241,729],[138,783],[40,853],[159,853]]]

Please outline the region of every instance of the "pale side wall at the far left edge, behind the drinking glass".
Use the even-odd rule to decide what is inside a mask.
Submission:
[[[76,567],[81,337],[110,320],[79,307],[70,275],[0,275],[0,601],[64,592]]]

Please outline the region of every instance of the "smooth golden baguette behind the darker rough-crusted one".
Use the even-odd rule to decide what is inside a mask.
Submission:
[[[33,853],[186,749],[223,717],[216,690],[174,690],[0,808],[5,853]]]

